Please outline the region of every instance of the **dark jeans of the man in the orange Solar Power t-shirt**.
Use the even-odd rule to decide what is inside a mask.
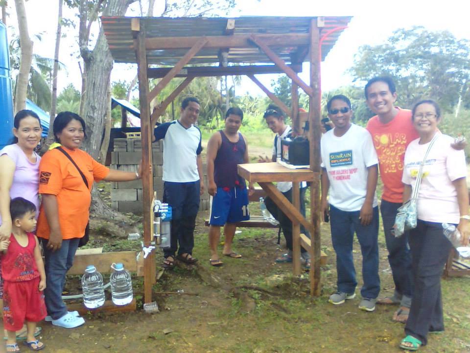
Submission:
[[[400,300],[401,306],[410,307],[413,296],[413,278],[411,274],[411,252],[408,246],[409,231],[395,237],[392,227],[395,224],[397,210],[401,203],[382,200],[380,214],[382,215],[383,232],[388,250],[388,263],[392,269],[395,283],[394,297]]]

